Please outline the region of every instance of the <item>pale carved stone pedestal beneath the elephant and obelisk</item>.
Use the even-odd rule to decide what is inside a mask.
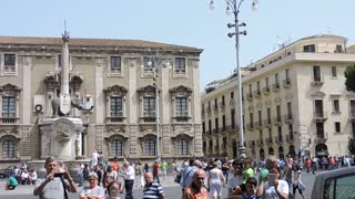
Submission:
[[[41,159],[49,156],[58,160],[74,160],[81,155],[81,134],[84,127],[80,118],[47,118],[40,124]]]

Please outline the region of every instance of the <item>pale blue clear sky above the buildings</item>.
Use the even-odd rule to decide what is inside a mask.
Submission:
[[[71,38],[134,39],[203,49],[200,87],[232,74],[235,39],[230,39],[224,0],[8,0],[1,3],[0,35],[61,38],[64,20]],[[239,0],[237,0],[239,1]],[[272,53],[278,42],[337,34],[355,44],[355,0],[244,0],[240,21],[240,63]],[[233,31],[232,31],[233,32]]]

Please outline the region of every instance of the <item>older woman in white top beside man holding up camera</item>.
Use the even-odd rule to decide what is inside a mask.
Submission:
[[[103,199],[104,189],[98,186],[99,177],[97,172],[89,174],[89,187],[85,187],[80,192],[80,199]]]

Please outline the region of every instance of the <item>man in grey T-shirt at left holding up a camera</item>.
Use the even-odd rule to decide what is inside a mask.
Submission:
[[[68,170],[63,172],[55,172],[58,161],[53,157],[48,157],[44,163],[47,170],[45,179],[39,178],[36,180],[33,195],[42,199],[53,198],[68,198],[68,191],[77,192],[77,187],[73,179],[70,177]],[[58,177],[57,177],[58,176]],[[64,189],[65,187],[65,189]]]

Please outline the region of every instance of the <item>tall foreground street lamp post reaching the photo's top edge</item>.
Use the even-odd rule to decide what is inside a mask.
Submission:
[[[246,27],[244,22],[239,21],[239,13],[244,0],[225,0],[226,13],[234,14],[234,23],[229,23],[227,28],[234,28],[234,32],[229,33],[230,38],[235,36],[235,57],[236,57],[236,73],[237,73],[237,103],[240,108],[240,146],[239,146],[239,159],[244,160],[246,158],[244,147],[244,128],[243,128],[243,104],[242,104],[242,75],[240,67],[240,34],[246,35],[246,31],[240,31],[240,27]],[[256,9],[257,0],[253,0],[253,8]],[[210,3],[211,10],[215,8],[214,0]]]

